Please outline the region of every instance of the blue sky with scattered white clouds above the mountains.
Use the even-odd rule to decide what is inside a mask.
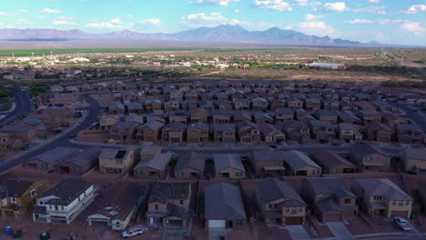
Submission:
[[[0,7],[0,28],[175,33],[223,24],[426,45],[426,0],[3,0]]]

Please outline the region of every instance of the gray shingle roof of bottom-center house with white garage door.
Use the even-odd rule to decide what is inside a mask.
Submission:
[[[236,185],[217,183],[204,187],[206,219],[246,220],[246,212]]]

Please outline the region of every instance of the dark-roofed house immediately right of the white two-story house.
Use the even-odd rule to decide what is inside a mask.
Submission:
[[[87,214],[87,224],[100,223],[125,230],[147,197],[147,188],[135,183],[117,183],[98,196]]]

